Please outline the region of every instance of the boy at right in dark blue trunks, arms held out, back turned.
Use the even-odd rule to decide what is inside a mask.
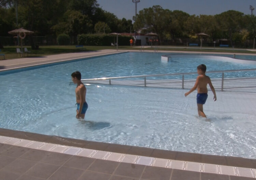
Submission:
[[[197,79],[196,83],[193,88],[190,89],[190,91],[185,93],[185,96],[190,94],[191,92],[195,91],[197,89],[197,110],[198,110],[198,115],[206,118],[206,115],[203,112],[203,105],[205,104],[207,97],[208,97],[208,90],[207,90],[207,85],[209,84],[212,92],[213,92],[213,100],[216,101],[216,93],[215,89],[212,85],[211,79],[209,76],[205,75],[206,71],[206,66],[204,64],[201,64],[197,67]]]

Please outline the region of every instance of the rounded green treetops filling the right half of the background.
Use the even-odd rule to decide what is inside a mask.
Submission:
[[[161,6],[144,8],[133,17],[134,29],[155,32],[160,42],[177,41],[179,38],[197,38],[198,33],[210,35],[211,41],[228,39],[229,44],[246,43],[256,34],[256,16],[238,11],[226,11],[212,15],[189,15],[182,11],[170,11]]]

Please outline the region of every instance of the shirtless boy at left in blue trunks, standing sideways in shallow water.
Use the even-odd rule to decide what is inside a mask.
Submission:
[[[75,88],[75,97],[76,97],[76,118],[84,119],[85,112],[88,108],[88,104],[85,101],[86,96],[86,87],[81,81],[81,73],[79,71],[75,71],[71,74],[72,81],[74,84],[77,84]]]

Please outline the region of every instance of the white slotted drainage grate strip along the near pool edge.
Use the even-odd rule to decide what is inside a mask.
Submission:
[[[188,170],[200,173],[212,173],[256,179],[256,169],[254,168],[234,167],[217,164],[207,164],[190,161],[179,161],[171,159],[129,155],[116,152],[108,152],[94,149],[86,149],[81,147],[64,146],[59,144],[11,138],[6,136],[0,136],[0,143],[115,162],[124,162],[146,166]]]

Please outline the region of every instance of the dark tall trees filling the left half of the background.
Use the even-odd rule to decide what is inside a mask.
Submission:
[[[96,0],[1,0],[0,26],[0,36],[18,27],[38,36],[133,31],[132,20],[118,19],[102,10]]]

